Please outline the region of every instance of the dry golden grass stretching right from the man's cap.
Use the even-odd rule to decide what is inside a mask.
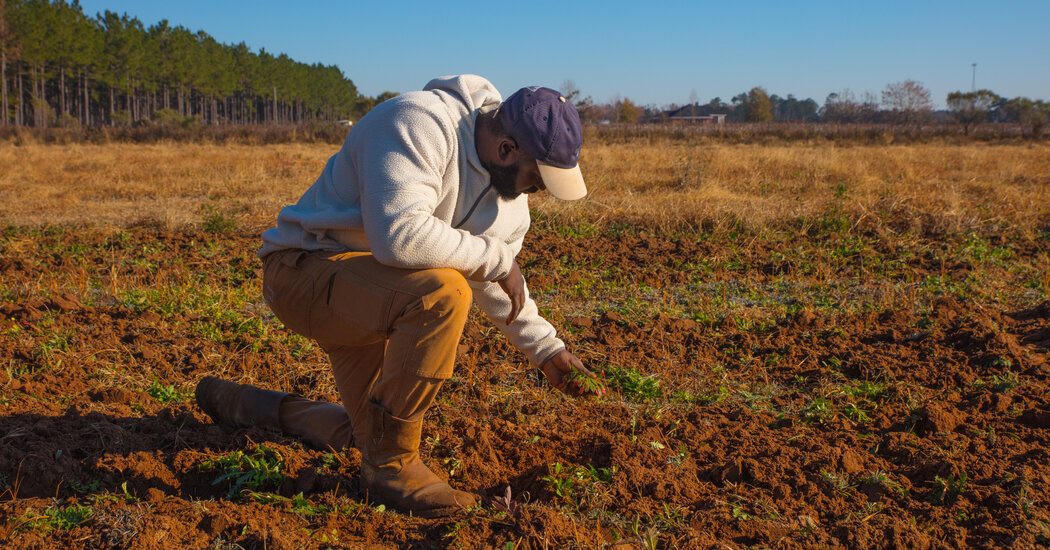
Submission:
[[[654,229],[761,230],[832,215],[956,232],[1030,231],[1050,204],[1046,145],[627,143],[591,146],[581,163],[588,199],[540,198],[538,210]]]

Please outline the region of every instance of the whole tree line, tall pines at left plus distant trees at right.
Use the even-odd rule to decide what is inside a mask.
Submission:
[[[585,122],[660,122],[682,105],[640,106],[628,98],[597,103],[572,81],[563,93]],[[222,44],[204,30],[106,10],[89,17],[74,0],[0,0],[0,126],[298,124],[360,119],[394,97],[360,96],[335,65],[307,64],[242,42]],[[830,122],[920,125],[953,120],[969,133],[984,122],[1020,124],[1040,134],[1050,103],[1002,98],[990,90],[948,94],[934,111],[930,91],[906,80],[880,96],[848,89],[813,99],[771,94],[756,86],[728,103],[714,98],[694,114],[729,122]]]

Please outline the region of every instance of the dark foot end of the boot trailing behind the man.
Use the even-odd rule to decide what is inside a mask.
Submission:
[[[218,424],[280,431],[280,402],[292,394],[207,376],[197,383],[193,395],[197,405]]]

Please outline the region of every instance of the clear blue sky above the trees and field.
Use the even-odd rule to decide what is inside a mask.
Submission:
[[[571,79],[597,102],[729,101],[753,86],[823,104],[906,79],[943,106],[953,90],[1050,99],[1050,0],[854,2],[81,0],[147,26],[338,65],[361,93],[482,75],[507,96]]]

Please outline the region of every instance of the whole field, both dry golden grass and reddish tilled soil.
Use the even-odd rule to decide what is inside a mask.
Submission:
[[[446,521],[193,402],[336,399],[254,253],[337,146],[0,145],[0,546],[1050,544],[1050,146],[594,142],[520,260],[610,392],[474,312],[421,447],[483,496]]]

